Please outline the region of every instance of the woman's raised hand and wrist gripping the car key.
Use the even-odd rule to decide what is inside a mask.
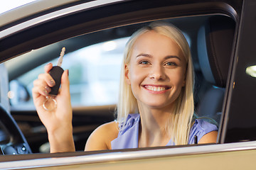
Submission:
[[[39,74],[33,84],[33,102],[43,125],[48,131],[50,152],[72,152],[75,151],[72,128],[72,107],[70,102],[70,89],[68,70],[61,77],[61,88],[55,97],[57,107],[52,111],[43,108],[43,102],[50,93],[50,88],[55,85],[53,78],[48,74],[53,64],[47,64],[45,73]]]

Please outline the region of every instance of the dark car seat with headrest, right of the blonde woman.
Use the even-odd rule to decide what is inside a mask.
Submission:
[[[201,91],[196,114],[220,122],[225,86],[235,33],[235,21],[228,16],[210,16],[198,31],[198,62],[208,84]]]

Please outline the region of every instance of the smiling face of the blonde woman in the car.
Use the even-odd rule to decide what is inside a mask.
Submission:
[[[125,77],[139,105],[169,108],[185,86],[186,61],[174,40],[149,31],[137,38]]]

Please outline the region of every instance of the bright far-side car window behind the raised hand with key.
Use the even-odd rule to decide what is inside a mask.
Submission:
[[[120,67],[127,40],[128,38],[120,38],[100,42],[64,55],[62,67],[69,70],[73,106],[117,103]],[[55,65],[57,61],[58,58],[55,58],[50,62]],[[46,64],[43,63],[10,82],[11,106],[33,106],[33,81],[37,79],[38,74],[44,72],[43,67]]]

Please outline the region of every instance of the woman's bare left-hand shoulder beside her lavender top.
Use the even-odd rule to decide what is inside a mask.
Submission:
[[[117,122],[100,125],[88,138],[85,151],[111,149],[110,142],[117,138],[118,132]]]

